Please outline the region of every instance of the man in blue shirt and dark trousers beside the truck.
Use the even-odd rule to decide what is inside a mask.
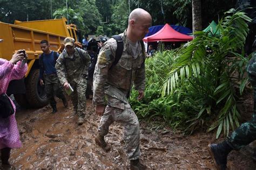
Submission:
[[[63,94],[62,86],[59,83],[55,69],[55,64],[57,58],[59,57],[59,53],[50,50],[50,44],[47,40],[42,40],[40,42],[40,47],[43,53],[39,57],[39,82],[41,86],[45,84],[46,97],[50,101],[52,113],[56,113],[57,107],[54,94],[56,94],[58,98],[62,99],[64,107],[68,107],[68,101],[66,101],[65,95]],[[45,83],[43,81],[43,74]]]

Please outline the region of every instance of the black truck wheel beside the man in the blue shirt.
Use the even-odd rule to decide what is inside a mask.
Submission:
[[[30,107],[39,108],[48,104],[44,87],[39,83],[39,69],[30,71],[26,80],[26,98]]]

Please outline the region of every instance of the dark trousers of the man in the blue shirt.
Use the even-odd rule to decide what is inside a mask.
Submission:
[[[45,92],[51,106],[56,106],[54,95],[65,99],[57,74],[45,75]]]

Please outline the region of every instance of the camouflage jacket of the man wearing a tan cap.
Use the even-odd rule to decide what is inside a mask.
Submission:
[[[82,56],[79,55],[78,50],[80,50]],[[63,51],[60,53],[55,65],[60,83],[62,85],[66,81],[79,83],[80,79],[86,78],[90,64],[90,56],[82,49],[75,48],[75,53],[72,58],[66,51]]]

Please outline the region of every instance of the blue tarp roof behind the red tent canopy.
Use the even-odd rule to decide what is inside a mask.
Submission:
[[[189,28],[186,28],[184,26],[178,26],[178,25],[170,25],[175,31],[178,31],[180,33],[183,33],[185,35],[190,35],[192,31]],[[158,32],[160,29],[162,29],[164,25],[156,25],[156,26],[151,26],[149,28],[149,33],[146,34],[145,37],[151,36],[154,33]]]

